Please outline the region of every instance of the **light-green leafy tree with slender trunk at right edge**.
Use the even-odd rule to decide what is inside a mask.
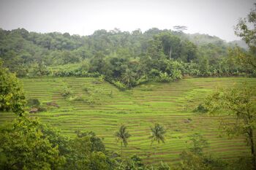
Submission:
[[[255,123],[256,101],[255,87],[247,84],[236,85],[233,88],[222,88],[215,91],[206,100],[209,112],[222,114],[222,128],[229,136],[244,135],[251,148],[252,163],[256,169]],[[225,114],[223,114],[225,113]],[[236,118],[234,123],[227,122],[225,116]]]

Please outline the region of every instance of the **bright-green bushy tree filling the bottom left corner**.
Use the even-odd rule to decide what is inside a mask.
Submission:
[[[59,145],[50,142],[42,125],[33,118],[19,117],[0,128],[1,169],[60,169],[65,158]]]

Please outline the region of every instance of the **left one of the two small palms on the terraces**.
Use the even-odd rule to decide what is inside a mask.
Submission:
[[[119,130],[116,131],[115,136],[116,136],[116,141],[121,141],[121,156],[122,156],[122,152],[123,152],[123,144],[124,147],[127,147],[127,139],[129,138],[129,136],[131,136],[128,131],[126,131],[127,127],[125,125],[121,125]]]

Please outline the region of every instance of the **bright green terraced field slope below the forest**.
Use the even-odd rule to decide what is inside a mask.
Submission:
[[[252,78],[197,78],[170,83],[148,83],[127,91],[119,91],[108,82],[96,78],[42,78],[22,79],[27,98],[38,98],[41,103],[56,101],[59,108],[37,115],[45,123],[61,129],[67,136],[75,136],[75,131],[94,131],[102,136],[109,150],[119,150],[113,136],[121,123],[132,134],[125,154],[138,153],[146,162],[157,159],[176,163],[179,153],[187,145],[187,136],[195,132],[203,134],[210,148],[208,152],[221,158],[230,159],[249,154],[243,138],[227,139],[219,137],[217,117],[198,115],[192,112],[200,101],[217,86],[249,82]],[[76,95],[86,101],[68,101],[61,96],[64,83]],[[84,90],[86,87],[86,90]],[[93,95],[91,95],[93,93]],[[12,119],[12,114],[1,113],[0,122]],[[189,121],[188,121],[189,120]],[[232,118],[230,118],[232,120]],[[161,123],[167,128],[166,143],[159,144],[154,159],[150,146],[149,127]]]

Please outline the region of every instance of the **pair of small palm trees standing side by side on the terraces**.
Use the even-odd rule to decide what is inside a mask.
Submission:
[[[165,143],[165,128],[164,126],[160,125],[159,123],[155,123],[151,129],[151,136],[149,136],[149,139],[151,139],[151,145],[156,143]],[[123,146],[127,147],[128,144],[128,138],[131,136],[129,132],[127,131],[127,126],[121,125],[118,131],[114,134],[116,136],[116,141],[120,142],[121,146],[121,156],[123,154]],[[156,156],[156,150],[157,146],[154,147],[154,157]]]

